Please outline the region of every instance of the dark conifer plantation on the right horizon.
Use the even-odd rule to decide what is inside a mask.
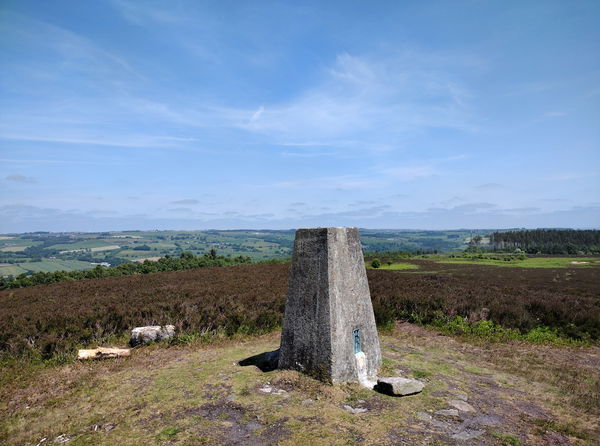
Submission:
[[[598,254],[600,231],[575,229],[533,229],[493,232],[490,247],[494,251],[520,249],[530,254]]]

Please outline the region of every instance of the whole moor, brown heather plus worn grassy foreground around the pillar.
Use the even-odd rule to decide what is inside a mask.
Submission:
[[[599,260],[485,257],[389,256],[368,269],[382,374],[426,382],[420,396],[401,399],[238,365],[277,348],[289,264],[1,291],[0,438],[593,444],[600,433]],[[167,323],[176,325],[176,340],[135,349],[129,359],[74,360],[79,347],[125,345],[133,326]],[[467,410],[454,411],[456,404]]]

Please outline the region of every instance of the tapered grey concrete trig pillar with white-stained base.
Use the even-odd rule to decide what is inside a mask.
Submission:
[[[296,231],[279,368],[373,387],[379,338],[356,228]]]

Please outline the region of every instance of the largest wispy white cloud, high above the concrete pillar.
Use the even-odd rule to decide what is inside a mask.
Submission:
[[[344,53],[319,85],[286,104],[264,105],[260,116],[240,126],[285,135],[296,145],[377,131],[387,137],[429,127],[471,131],[469,98],[442,66],[415,52],[379,58]]]

